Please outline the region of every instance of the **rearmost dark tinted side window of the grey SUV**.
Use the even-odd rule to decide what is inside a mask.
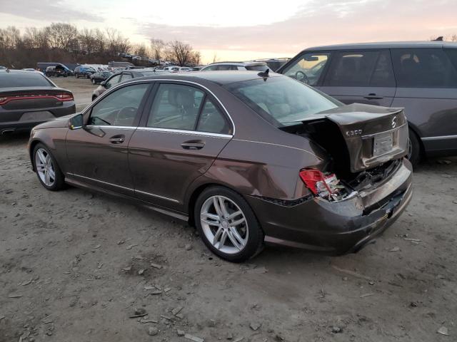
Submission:
[[[392,49],[397,86],[457,88],[457,68],[442,48]]]

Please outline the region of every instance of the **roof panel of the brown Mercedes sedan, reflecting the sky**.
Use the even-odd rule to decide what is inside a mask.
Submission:
[[[161,73],[156,76],[144,76],[140,78],[135,78],[135,81],[141,80],[169,80],[169,81],[211,81],[213,83],[219,84],[219,86],[224,86],[229,83],[236,83],[242,81],[255,80],[258,78],[263,78],[258,75],[258,71],[194,71],[192,73]],[[269,73],[268,77],[286,77],[279,73]]]

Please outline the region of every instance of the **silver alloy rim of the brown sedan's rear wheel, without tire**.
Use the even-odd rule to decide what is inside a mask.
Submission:
[[[248,222],[228,197],[211,196],[201,206],[201,228],[206,239],[226,254],[241,252],[248,242]]]

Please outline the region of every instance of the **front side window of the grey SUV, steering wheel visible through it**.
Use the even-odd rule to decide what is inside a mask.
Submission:
[[[330,53],[304,53],[290,63],[282,73],[310,86],[317,86]]]

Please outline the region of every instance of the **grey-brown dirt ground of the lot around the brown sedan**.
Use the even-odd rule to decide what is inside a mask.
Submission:
[[[421,165],[407,212],[358,254],[240,265],[142,207],[44,190],[26,140],[0,141],[1,342],[457,341],[457,158]]]

